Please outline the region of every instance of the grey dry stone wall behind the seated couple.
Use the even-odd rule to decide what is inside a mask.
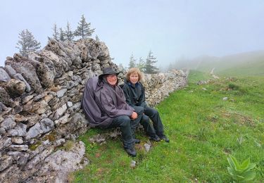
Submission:
[[[68,172],[89,163],[76,141],[89,130],[80,100],[87,80],[109,66],[125,77],[106,44],[94,39],[50,40],[29,58],[15,53],[6,59],[0,67],[0,182],[65,182]],[[187,75],[145,75],[143,83],[154,106],[184,87]]]

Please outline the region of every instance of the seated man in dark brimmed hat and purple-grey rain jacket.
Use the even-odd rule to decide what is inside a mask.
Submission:
[[[120,127],[125,151],[137,156],[134,149],[134,130],[142,119],[143,110],[137,112],[125,102],[118,86],[118,74],[113,68],[104,68],[99,77],[87,81],[82,96],[82,108],[91,127]]]

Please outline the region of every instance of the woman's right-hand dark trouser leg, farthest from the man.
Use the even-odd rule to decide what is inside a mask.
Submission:
[[[156,131],[156,134],[161,135],[163,134],[163,124],[161,122],[161,117],[158,113],[158,111],[156,111],[155,108],[151,108],[149,106],[145,107],[144,110],[144,115],[149,116],[149,118],[151,118],[152,122],[153,122],[153,127]]]

